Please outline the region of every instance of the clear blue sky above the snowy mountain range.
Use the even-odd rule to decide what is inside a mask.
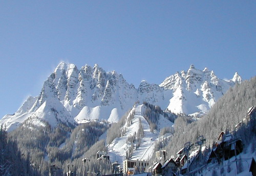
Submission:
[[[217,77],[255,76],[255,1],[1,1],[0,118],[60,61],[99,64],[138,87],[190,64]]]

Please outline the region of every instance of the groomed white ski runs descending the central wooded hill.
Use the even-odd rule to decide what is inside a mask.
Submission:
[[[155,141],[158,140],[159,137],[159,131],[155,131],[154,133],[150,132],[150,125],[146,121],[146,119],[143,117],[143,111],[145,110],[144,105],[137,105],[132,109],[132,111],[135,110],[134,118],[132,119],[132,124],[129,125],[129,123],[126,122],[123,129],[126,129],[126,133],[124,136],[120,138],[115,138],[113,142],[109,145],[109,155],[111,161],[118,161],[119,163],[122,163],[123,160],[126,158],[126,151],[129,147],[131,147],[131,142],[127,142],[128,138],[133,136],[134,134],[138,133],[139,130],[139,121],[141,121],[143,131],[144,131],[144,137],[142,138],[142,143],[140,147],[138,147],[136,150],[134,150],[132,155],[132,160],[148,160],[152,157],[152,153],[154,150],[154,144]],[[129,116],[128,116],[129,117]],[[159,120],[159,129],[162,129],[164,127],[172,127],[174,123],[170,122],[166,118],[164,118],[162,115],[160,115]],[[133,145],[134,148],[136,147],[136,141]]]

